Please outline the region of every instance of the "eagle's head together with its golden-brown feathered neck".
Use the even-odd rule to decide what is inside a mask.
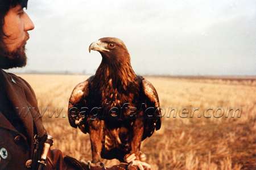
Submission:
[[[96,50],[102,56],[101,64],[95,74],[99,81],[105,79],[109,82],[111,79],[113,87],[122,86],[125,90],[131,82],[134,82],[136,74],[131,67],[130,54],[122,40],[105,37],[92,42],[89,52],[90,50]]]

